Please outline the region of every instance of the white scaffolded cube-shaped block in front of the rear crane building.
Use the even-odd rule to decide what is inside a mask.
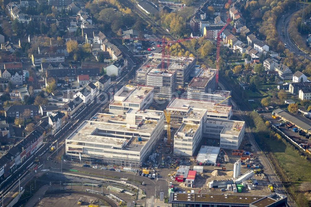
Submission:
[[[146,85],[154,87],[154,97],[171,99],[176,89],[176,72],[151,69],[147,74]]]

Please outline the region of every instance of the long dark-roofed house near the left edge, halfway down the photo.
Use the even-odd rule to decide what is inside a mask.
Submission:
[[[9,106],[4,108],[5,117],[24,117],[24,111],[26,109],[30,110],[30,117],[35,117],[39,115],[39,108],[33,104]]]

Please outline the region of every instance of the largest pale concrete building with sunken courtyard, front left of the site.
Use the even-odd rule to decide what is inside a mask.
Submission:
[[[164,113],[130,109],[125,116],[98,113],[66,139],[66,156],[139,168],[162,139]]]

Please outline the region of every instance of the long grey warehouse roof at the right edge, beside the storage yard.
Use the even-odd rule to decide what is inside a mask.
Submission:
[[[273,111],[277,115],[281,116],[282,118],[288,120],[289,122],[297,125],[298,127],[303,128],[304,130],[311,130],[311,121],[310,119],[300,116],[298,114],[292,114],[288,111],[284,111],[282,109],[276,109]]]

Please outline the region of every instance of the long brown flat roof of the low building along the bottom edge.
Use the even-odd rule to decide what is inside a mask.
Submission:
[[[177,196],[176,201],[190,201],[196,202],[213,202],[213,203],[236,203],[236,204],[251,204],[255,200],[264,198],[262,195],[229,195],[228,194],[190,194],[190,193],[174,193]],[[173,199],[174,202],[174,199]]]

